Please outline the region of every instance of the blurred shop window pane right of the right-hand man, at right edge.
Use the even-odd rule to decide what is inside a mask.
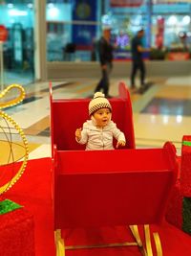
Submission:
[[[151,45],[165,55],[164,58],[188,59],[191,52],[188,1],[154,1]],[[182,53],[176,55],[173,53]],[[160,55],[161,56],[161,55]]]

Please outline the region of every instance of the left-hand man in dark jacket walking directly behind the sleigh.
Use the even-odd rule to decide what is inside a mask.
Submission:
[[[110,43],[110,37],[111,37],[111,30],[105,29],[97,45],[102,77],[96,86],[95,92],[102,90],[106,98],[110,97],[109,96],[109,87],[110,87],[109,74],[113,68],[114,47]]]

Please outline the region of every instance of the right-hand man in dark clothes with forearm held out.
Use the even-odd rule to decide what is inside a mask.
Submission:
[[[139,92],[143,92],[145,85],[145,75],[146,69],[144,65],[144,60],[142,57],[142,53],[146,51],[150,51],[147,48],[143,48],[142,46],[142,38],[144,36],[144,30],[141,29],[138,31],[137,35],[132,39],[131,43],[131,53],[132,53],[132,71],[131,71],[131,90],[133,92],[137,91],[137,87],[135,84],[137,71],[140,71],[140,88]]]

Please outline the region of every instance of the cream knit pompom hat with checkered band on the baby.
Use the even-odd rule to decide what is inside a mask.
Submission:
[[[100,108],[109,108],[112,111],[112,106],[102,92],[95,93],[94,99],[90,102],[88,108],[90,116]]]

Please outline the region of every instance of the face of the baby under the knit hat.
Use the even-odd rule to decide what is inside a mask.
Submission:
[[[112,113],[109,108],[100,108],[96,110],[93,116],[96,120],[97,127],[104,128],[111,120]]]

